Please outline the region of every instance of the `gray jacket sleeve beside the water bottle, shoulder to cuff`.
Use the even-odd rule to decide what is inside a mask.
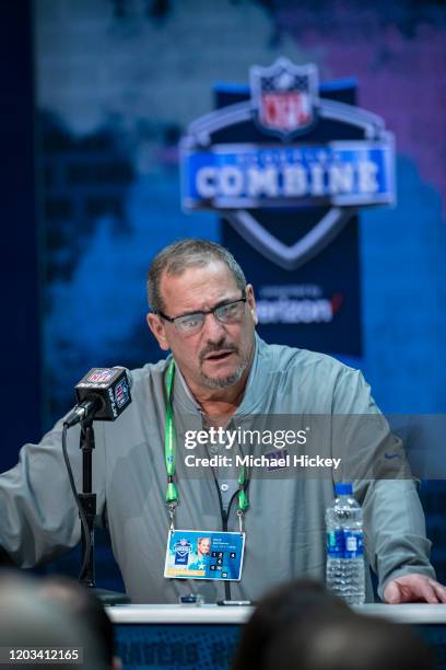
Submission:
[[[435,578],[418,482],[360,371],[347,368],[339,377],[333,415],[339,415],[333,416],[333,449],[342,452],[341,476],[353,482],[363,507],[365,551],[379,597],[396,577],[418,573]]]

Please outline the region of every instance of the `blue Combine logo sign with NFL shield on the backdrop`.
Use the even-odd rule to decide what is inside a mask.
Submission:
[[[236,127],[245,141],[227,140]],[[318,254],[360,208],[395,201],[392,136],[375,114],[320,97],[314,65],[253,67],[250,100],[198,118],[180,148],[184,208],[218,211],[284,269]],[[261,209],[318,219],[290,244],[261,224]]]

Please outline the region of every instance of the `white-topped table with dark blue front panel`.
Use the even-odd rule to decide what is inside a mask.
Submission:
[[[360,613],[420,627],[423,636],[437,647],[439,658],[444,659],[438,668],[446,670],[446,604],[365,604],[354,609]],[[126,670],[159,667],[167,670],[179,666],[195,669],[203,663],[220,670],[225,665],[228,667],[239,637],[239,627],[248,621],[253,611],[250,607],[215,604],[125,604],[107,608],[116,626],[118,652]]]

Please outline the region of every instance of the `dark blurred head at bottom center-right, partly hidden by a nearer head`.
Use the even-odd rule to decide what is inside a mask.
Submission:
[[[333,619],[353,615],[343,600],[329,593],[319,581],[298,579],[265,596],[242,632],[233,670],[262,668],[267,647],[284,626],[293,623],[298,627],[320,611]]]

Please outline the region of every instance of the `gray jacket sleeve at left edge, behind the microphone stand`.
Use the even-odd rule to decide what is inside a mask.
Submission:
[[[93,493],[96,519],[104,510],[105,449],[96,429]],[[68,430],[67,449],[78,492],[82,490],[79,427]],[[0,475],[0,546],[21,567],[56,558],[81,536],[80,519],[62,452],[62,419],[38,444],[25,444],[19,463]]]

